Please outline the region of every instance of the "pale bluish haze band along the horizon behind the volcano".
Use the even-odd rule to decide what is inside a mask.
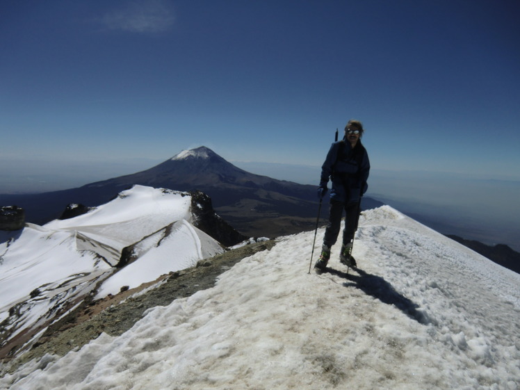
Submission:
[[[8,171],[0,170],[0,194],[76,188],[147,170],[163,161],[165,159],[129,158],[111,164],[76,162],[71,166],[40,163],[38,169],[26,161],[11,166]],[[247,172],[298,184],[317,186],[320,177],[320,166],[317,165],[230,162]],[[456,234],[488,245],[504,243],[520,251],[517,242],[520,210],[514,206],[520,198],[520,180],[373,168],[366,195],[394,206],[443,234]]]

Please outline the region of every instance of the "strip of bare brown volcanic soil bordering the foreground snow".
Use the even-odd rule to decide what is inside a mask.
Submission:
[[[83,302],[72,313],[51,325],[31,350],[11,361],[4,359],[3,363],[6,363],[9,366],[8,371],[12,372],[19,365],[46,353],[63,356],[70,350],[81,348],[90,340],[96,339],[102,332],[118,336],[140,320],[145,310],[166,306],[177,298],[185,298],[197,291],[209,289],[214,286],[218,275],[229,270],[238,261],[256,252],[270,250],[274,245],[273,240],[245,245],[211,259],[199,261],[193,268],[164,275],[137,289],[109,295],[95,302]],[[162,282],[160,286],[136,295],[158,282]]]

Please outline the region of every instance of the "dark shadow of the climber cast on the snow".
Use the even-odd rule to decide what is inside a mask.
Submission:
[[[428,318],[428,315],[425,314],[424,311],[418,310],[418,304],[398,293],[395,289],[393,289],[389,282],[380,276],[371,275],[366,273],[364,270],[360,270],[359,268],[355,268],[355,272],[359,275],[355,275],[352,272],[344,273],[342,271],[334,270],[333,268],[328,267],[325,272],[332,275],[337,275],[343,279],[347,279],[348,282],[343,283],[343,286],[355,287],[364,293],[377,298],[383,303],[393,304],[393,306],[400,309],[400,311],[403,311],[404,314],[423,325],[427,325],[431,322],[430,318]]]

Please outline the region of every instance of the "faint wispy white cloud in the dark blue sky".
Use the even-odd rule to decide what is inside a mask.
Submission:
[[[162,0],[132,1],[125,8],[101,17],[101,24],[111,30],[133,33],[161,33],[174,23],[171,6]]]

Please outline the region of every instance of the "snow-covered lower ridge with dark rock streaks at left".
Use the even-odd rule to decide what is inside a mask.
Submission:
[[[134,186],[81,216],[0,232],[0,356],[93,291],[103,298],[224,251],[191,222],[188,193]]]

